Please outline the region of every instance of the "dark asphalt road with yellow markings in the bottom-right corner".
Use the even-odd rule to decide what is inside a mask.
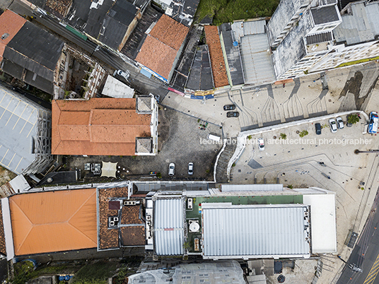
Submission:
[[[358,243],[353,249],[342,275],[337,284],[374,284],[379,283],[379,210],[378,193],[375,196],[373,208],[365,228],[358,239]],[[362,269],[356,271],[353,267]]]

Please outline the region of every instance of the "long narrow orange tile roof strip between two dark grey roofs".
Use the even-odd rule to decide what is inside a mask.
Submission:
[[[215,25],[205,25],[205,40],[209,47],[209,56],[211,57],[212,74],[214,77],[214,86],[216,88],[229,85],[226,76],[225,61],[223,59],[223,50],[221,48],[220,36]]]

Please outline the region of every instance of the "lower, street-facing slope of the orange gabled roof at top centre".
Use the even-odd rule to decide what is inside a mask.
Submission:
[[[154,54],[152,56],[152,54]],[[168,79],[173,68],[177,50],[148,35],[136,57],[136,61]]]

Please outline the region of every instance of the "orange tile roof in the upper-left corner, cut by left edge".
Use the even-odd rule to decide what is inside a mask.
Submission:
[[[26,20],[13,13],[11,10],[6,10],[0,16],[0,62],[3,60],[4,49],[8,42],[17,34],[17,32],[23,27]],[[8,37],[1,40],[1,37],[8,33]]]

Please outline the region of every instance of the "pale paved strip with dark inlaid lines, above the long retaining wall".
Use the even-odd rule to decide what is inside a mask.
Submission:
[[[240,131],[262,126],[336,112],[364,110],[368,102],[373,104],[371,94],[372,90],[378,91],[378,76],[379,64],[371,62],[364,66],[327,71],[327,90],[322,89],[320,74],[312,74],[296,78],[285,85],[260,85],[250,89],[226,90],[224,93],[220,90],[214,99],[206,102],[190,100],[170,92],[162,105],[223,126],[224,136],[230,138],[237,136]],[[236,105],[240,117],[226,117],[223,105],[231,103]]]

